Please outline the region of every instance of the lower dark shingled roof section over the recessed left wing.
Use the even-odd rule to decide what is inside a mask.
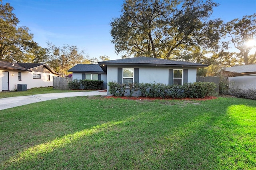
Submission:
[[[100,65],[98,64],[77,64],[68,71],[70,72],[102,72]]]

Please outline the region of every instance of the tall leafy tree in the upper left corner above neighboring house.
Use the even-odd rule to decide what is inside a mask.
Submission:
[[[19,20],[12,13],[14,8],[0,0],[0,60],[31,62],[33,50],[39,49],[28,27],[18,26]]]

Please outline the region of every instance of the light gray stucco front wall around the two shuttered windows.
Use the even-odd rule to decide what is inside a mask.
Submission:
[[[117,68],[139,68],[139,83],[164,83],[168,85],[169,69],[188,69],[188,83],[196,82],[195,67],[149,67],[149,66],[132,66],[124,65],[108,65],[107,67],[107,82],[117,82]],[[107,90],[109,87],[107,86]],[[110,93],[108,92],[108,95]]]

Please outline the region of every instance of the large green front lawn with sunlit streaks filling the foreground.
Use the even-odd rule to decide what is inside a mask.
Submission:
[[[5,109],[0,169],[256,169],[256,101],[71,97]]]

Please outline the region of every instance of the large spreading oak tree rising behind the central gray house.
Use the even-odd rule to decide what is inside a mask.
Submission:
[[[216,49],[219,19],[212,0],[126,0],[111,25],[116,53],[171,59],[198,47]]]

